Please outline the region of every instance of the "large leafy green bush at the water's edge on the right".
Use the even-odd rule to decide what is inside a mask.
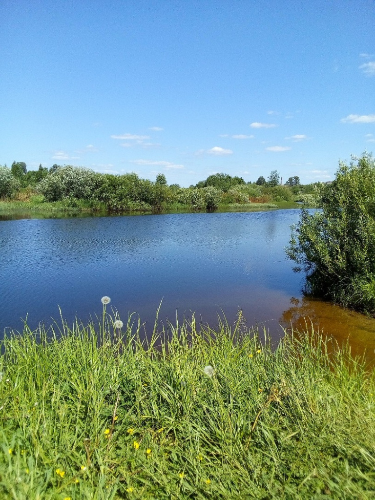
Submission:
[[[335,180],[316,191],[321,210],[302,210],[286,254],[306,273],[307,292],[375,315],[373,157],[339,162]]]

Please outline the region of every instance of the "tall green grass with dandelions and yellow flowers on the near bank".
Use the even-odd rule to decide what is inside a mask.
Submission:
[[[1,498],[374,497],[375,378],[347,350],[99,323],[4,340]]]

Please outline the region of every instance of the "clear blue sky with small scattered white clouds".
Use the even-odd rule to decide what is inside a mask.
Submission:
[[[2,0],[0,164],[329,180],[375,146],[373,0]]]

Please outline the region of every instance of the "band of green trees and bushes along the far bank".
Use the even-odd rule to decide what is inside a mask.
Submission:
[[[295,183],[290,179],[297,179]],[[24,162],[13,162],[10,168],[0,166],[0,197],[17,198],[19,193],[42,195],[45,201],[63,201],[71,206],[87,206],[109,212],[160,212],[168,209],[215,210],[218,205],[293,201],[296,194],[313,192],[313,186],[302,186],[298,177],[284,184],[276,170],[265,181],[245,182],[242,177],[225,173],[210,175],[189,187],[168,185],[164,174],[155,181],[136,173],[113,175],[94,172],[85,167],[52,165],[47,169],[27,171]],[[264,179],[264,182],[263,180]]]

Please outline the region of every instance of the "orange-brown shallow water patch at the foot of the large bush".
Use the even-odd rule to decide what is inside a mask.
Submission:
[[[290,304],[280,318],[284,328],[298,331],[313,328],[323,336],[332,336],[339,346],[348,340],[353,355],[366,352],[366,357],[374,360],[375,319],[316,298],[291,297]]]

